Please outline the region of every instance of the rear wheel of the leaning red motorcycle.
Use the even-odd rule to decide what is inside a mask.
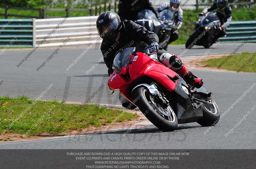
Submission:
[[[208,98],[201,97],[201,99],[209,103],[212,103],[212,105],[205,104],[205,103],[202,104],[203,117],[197,123],[202,126],[216,125],[220,120],[220,110],[218,105],[212,99],[212,97],[208,97]]]

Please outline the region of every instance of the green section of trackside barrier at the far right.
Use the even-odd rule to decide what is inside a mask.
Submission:
[[[256,42],[256,21],[234,21],[227,28],[227,37],[220,38],[221,43]],[[250,38],[249,38],[250,37]]]

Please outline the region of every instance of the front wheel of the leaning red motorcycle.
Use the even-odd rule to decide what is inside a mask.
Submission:
[[[163,131],[173,131],[177,128],[178,119],[170,105],[163,108],[145,87],[137,88],[133,95],[134,98],[140,98],[136,102],[137,106],[156,127]]]

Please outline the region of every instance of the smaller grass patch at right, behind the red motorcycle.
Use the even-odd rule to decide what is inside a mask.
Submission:
[[[229,59],[228,59],[229,58]],[[249,61],[251,58],[251,61]],[[227,60],[227,61],[226,61]],[[256,73],[256,54],[255,53],[239,53],[233,56],[223,56],[217,59],[205,60],[203,63],[206,67],[219,67],[237,72],[253,72]]]

